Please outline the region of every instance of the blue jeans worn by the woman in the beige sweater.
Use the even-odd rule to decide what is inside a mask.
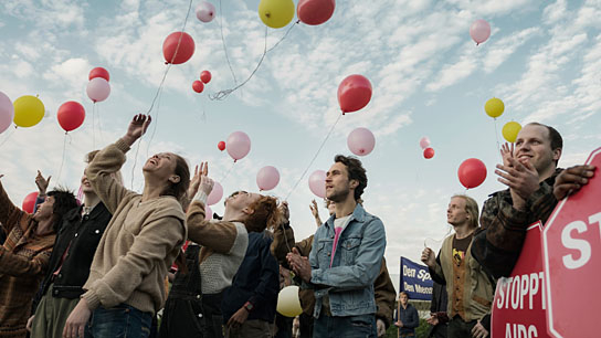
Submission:
[[[127,304],[119,304],[112,308],[98,307],[92,314],[89,326],[86,328],[86,338],[119,338],[150,335],[152,315],[143,313]]]

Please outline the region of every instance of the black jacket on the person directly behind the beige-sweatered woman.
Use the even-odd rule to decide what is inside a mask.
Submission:
[[[83,218],[82,208],[71,210],[63,218],[44,277],[42,295],[48,292],[52,283],[54,283],[53,297],[74,299],[84,293],[82,286],[87,281],[94,253],[112,215],[102,202]],[[67,250],[63,266],[59,275],[53,278]]]

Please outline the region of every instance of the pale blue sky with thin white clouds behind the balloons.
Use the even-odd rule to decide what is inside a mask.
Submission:
[[[365,127],[376,136],[373,151],[360,158],[369,180],[365,208],[384,223],[397,284],[400,256],[419,262],[424,244],[442,244],[451,196],[467,193],[482,207],[505,188],[494,173],[504,124],[558,129],[560,167],[583,162],[601,146],[599,0],[347,0],[337,1],[321,25],[294,24],[295,17],[282,29],[263,24],[259,0],[211,2],[217,15],[209,23],[194,15],[198,0],[187,21],[186,0],[0,3],[0,92],[13,102],[39,95],[46,110],[40,124],[0,134],[2,184],[15,204],[36,190],[36,170],[52,175],[51,188],[77,190],[84,155],[123,136],[135,114],[149,112],[149,133],[122,169],[127,188],[140,190],[141,166],[159,151],[191,165],[209,161],[225,194],[256,192],[257,171],[274,166],[280,183],[263,193],[287,198],[300,240],[316,230],[308,175],[327,171],[337,154],[350,155],[348,134]],[[491,23],[492,34],[476,46],[470,25],[477,19]],[[168,67],[162,42],[184,22],[194,54],[169,67],[158,91]],[[251,75],[265,43],[275,47],[252,78],[224,99],[211,99]],[[96,66],[110,73],[112,92],[94,105],[85,88]],[[203,70],[212,81],[197,94],[191,85]],[[351,74],[370,80],[372,98],[339,118],[337,88]],[[492,97],[505,103],[496,120],[484,112]],[[67,101],[82,103],[86,118],[65,136],[56,110]],[[233,163],[217,145],[238,130],[251,138],[251,151]],[[419,146],[424,136],[435,150],[430,160]],[[457,179],[467,158],[487,167],[485,182],[468,191]],[[211,208],[223,213],[221,202]]]

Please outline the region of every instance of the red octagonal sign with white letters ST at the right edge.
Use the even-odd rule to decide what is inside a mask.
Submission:
[[[599,337],[601,304],[601,148],[595,176],[553,210],[542,232],[547,328],[553,337]]]

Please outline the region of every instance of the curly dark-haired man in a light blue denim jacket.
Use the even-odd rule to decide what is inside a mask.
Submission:
[[[377,337],[373,282],[386,249],[382,221],[357,203],[367,187],[361,161],[338,155],[327,172],[326,197],[336,212],[315,233],[309,260],[296,249],[288,262],[315,289],[313,337]]]

